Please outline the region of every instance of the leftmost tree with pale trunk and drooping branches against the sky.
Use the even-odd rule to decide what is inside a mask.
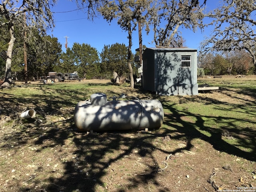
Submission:
[[[8,87],[12,81],[11,65],[12,51],[15,44],[15,28],[24,32],[28,26],[36,28],[41,34],[46,34],[46,30],[54,26],[50,6],[54,5],[56,0],[39,1],[39,0],[2,0],[0,3],[0,15],[5,20],[0,20],[0,27],[5,27],[9,32],[8,49],[6,50],[6,67],[5,80],[2,87]],[[26,22],[24,15],[26,14]],[[28,25],[28,26],[27,26]],[[28,30],[28,33],[30,30]],[[33,37],[33,36],[31,36]],[[38,44],[39,41],[35,40]]]

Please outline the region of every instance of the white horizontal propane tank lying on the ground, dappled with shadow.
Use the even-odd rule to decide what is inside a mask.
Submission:
[[[106,101],[102,93],[91,101],[80,101],[74,110],[74,123],[80,131],[160,128],[164,110],[158,100]]]

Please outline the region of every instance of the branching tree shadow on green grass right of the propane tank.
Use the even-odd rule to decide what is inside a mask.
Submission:
[[[248,95],[253,96],[250,93]],[[252,116],[256,114],[254,101],[244,100],[244,102],[247,103],[246,105],[244,105],[220,102],[219,100],[214,100],[212,98],[207,97],[200,98],[200,100],[203,100],[205,105],[213,104],[215,106],[214,110],[216,111],[226,110],[228,112],[229,110],[232,110],[238,112],[238,114],[242,112],[246,115],[250,114]],[[194,98],[189,98],[188,102],[191,101],[196,102]],[[186,101],[184,101],[184,103],[185,102]],[[253,126],[253,124],[255,123],[254,121],[245,120],[239,115],[235,118],[229,118],[221,115],[215,117],[209,115],[191,114],[188,111],[176,110],[172,105],[168,103],[164,103],[164,108],[168,108],[172,112],[172,114],[166,115],[166,118],[168,119],[168,121],[165,122],[166,125],[175,128],[179,133],[189,136],[190,141],[193,140],[194,138],[201,138],[202,140],[212,144],[212,146],[218,151],[226,152],[227,154],[232,154],[250,161],[256,161],[256,129],[254,127],[242,128],[236,124],[236,122],[244,122],[250,123],[251,126]],[[190,122],[182,120],[182,116],[193,116],[196,118],[196,121],[194,124],[191,124]],[[216,123],[216,127],[207,126],[206,119],[214,120]],[[177,122],[181,123],[182,125],[178,126]],[[226,126],[218,126],[217,124],[220,122],[226,122]],[[203,134],[202,131],[207,132],[207,134]],[[232,136],[233,138],[238,140],[238,145],[236,146],[236,144],[230,144],[227,141],[225,141],[225,134],[228,134],[228,136]],[[189,142],[187,146],[192,145]],[[241,147],[250,148],[250,152],[242,150]],[[188,148],[188,150],[190,150],[190,148]]]

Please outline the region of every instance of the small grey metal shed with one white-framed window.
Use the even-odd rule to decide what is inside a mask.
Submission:
[[[146,48],[142,87],[159,95],[198,95],[197,50]]]

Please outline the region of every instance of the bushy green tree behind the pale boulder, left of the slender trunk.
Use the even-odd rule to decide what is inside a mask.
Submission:
[[[110,78],[113,71],[117,72],[119,76],[128,73],[129,68],[127,64],[128,47],[125,44],[104,45],[100,53],[100,70],[101,74]]]

